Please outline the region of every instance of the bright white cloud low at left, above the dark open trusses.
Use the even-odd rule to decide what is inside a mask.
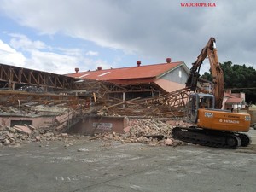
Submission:
[[[26,40],[26,43],[31,42],[28,38]],[[16,49],[26,49],[30,53],[29,57],[0,40],[0,62],[16,67],[26,67],[58,74],[69,73],[78,65],[78,61],[74,56],[42,52],[35,48],[38,46],[32,49],[33,46],[30,46],[32,44],[26,43],[24,44],[24,41],[15,41],[15,38],[13,38],[10,44],[15,44]]]

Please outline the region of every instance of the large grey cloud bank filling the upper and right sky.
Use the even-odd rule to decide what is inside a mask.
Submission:
[[[181,2],[188,0],[2,0],[0,9],[41,34],[62,33],[159,61],[172,57],[189,67],[214,37],[219,61],[255,67],[255,1],[215,0],[215,8],[182,8]]]

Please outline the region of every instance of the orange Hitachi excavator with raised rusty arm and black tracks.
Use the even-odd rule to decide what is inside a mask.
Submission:
[[[198,86],[200,67],[207,57],[212,73],[212,94],[199,92]],[[174,139],[215,148],[239,148],[251,143],[251,138],[246,134],[250,129],[250,114],[221,109],[224,73],[218,62],[215,38],[209,39],[197,60],[192,63],[186,87],[190,89],[191,94],[185,116],[191,126],[174,127]]]

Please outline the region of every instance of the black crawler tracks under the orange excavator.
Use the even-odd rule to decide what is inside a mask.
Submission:
[[[214,148],[246,147],[251,143],[251,138],[243,133],[228,131],[212,131],[198,127],[174,127],[172,137],[186,143],[194,143]]]

